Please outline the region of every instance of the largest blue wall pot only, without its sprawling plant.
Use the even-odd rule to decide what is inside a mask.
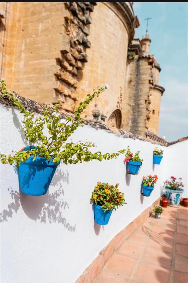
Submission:
[[[21,151],[30,150],[35,147],[25,147]],[[25,162],[21,162],[19,170],[20,190],[26,195],[42,196],[45,195],[50,186],[58,164],[54,164],[52,159],[48,161],[43,157],[36,157],[33,161],[30,156]]]

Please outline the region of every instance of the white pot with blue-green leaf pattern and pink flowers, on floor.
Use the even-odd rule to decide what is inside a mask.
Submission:
[[[182,178],[175,178],[174,176],[170,177],[170,180],[164,182],[166,189],[166,197],[169,200],[169,206],[178,207],[180,206],[181,195],[183,193],[183,183]]]

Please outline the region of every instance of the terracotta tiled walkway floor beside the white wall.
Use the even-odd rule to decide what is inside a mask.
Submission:
[[[114,252],[95,283],[187,283],[187,208],[149,217]]]

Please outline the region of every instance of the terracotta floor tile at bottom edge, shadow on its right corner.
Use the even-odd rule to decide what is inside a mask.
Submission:
[[[147,283],[169,283],[170,270],[142,262],[138,265],[138,269],[133,277],[136,280],[142,280]]]

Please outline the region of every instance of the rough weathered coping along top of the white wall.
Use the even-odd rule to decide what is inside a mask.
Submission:
[[[52,111],[52,106],[50,104],[45,104],[44,105],[41,102],[34,101],[34,100],[29,99],[27,97],[22,97],[17,92],[15,92],[13,90],[10,90],[10,92],[29,111],[33,111],[36,114],[42,114],[42,112],[44,111],[45,105],[49,106],[50,112]],[[6,106],[13,106],[13,107],[15,107],[11,100],[4,99],[2,97],[2,93],[0,94],[0,103],[3,104],[3,105],[6,105]],[[60,114],[61,114],[61,119],[65,119],[68,116],[68,113],[65,113],[65,112],[62,112],[62,111],[60,111]],[[177,140],[175,142],[166,142],[162,138],[160,138],[158,136],[155,136],[153,133],[150,133],[150,132],[146,132],[146,136],[149,136],[149,138],[144,138],[142,136],[135,135],[135,134],[132,134],[130,132],[126,132],[123,129],[119,129],[118,130],[119,133],[117,133],[117,129],[115,131],[113,131],[112,128],[110,129],[109,127],[107,127],[107,125],[104,125],[104,124],[101,124],[101,123],[97,123],[97,122],[94,122],[92,120],[84,119],[84,124],[85,125],[89,125],[92,128],[95,128],[96,130],[106,130],[109,133],[113,133],[113,134],[116,134],[118,136],[122,136],[123,138],[131,138],[131,139],[134,139],[134,140],[138,139],[138,140],[141,140],[141,141],[144,141],[144,142],[151,142],[153,144],[158,144],[158,145],[165,146],[165,147],[167,147],[169,145],[172,145],[172,144],[175,144],[177,142],[182,142],[182,141],[187,139],[187,137],[184,137],[184,138],[180,138],[179,140]]]

